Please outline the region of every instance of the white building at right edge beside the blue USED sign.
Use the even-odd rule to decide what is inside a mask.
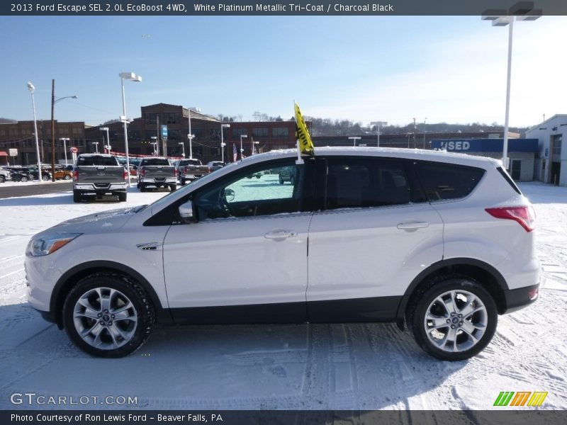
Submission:
[[[539,141],[536,179],[567,186],[567,114],[552,116],[528,130],[526,137]]]

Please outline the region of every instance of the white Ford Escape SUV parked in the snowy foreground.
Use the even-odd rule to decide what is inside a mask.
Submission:
[[[381,148],[296,159],[254,155],[36,234],[31,305],[102,357],[135,351],[155,321],[397,322],[453,361],[537,298],[534,212],[500,162]]]

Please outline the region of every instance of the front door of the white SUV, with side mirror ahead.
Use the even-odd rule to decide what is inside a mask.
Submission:
[[[301,176],[279,183],[285,166]],[[164,239],[164,274],[176,319],[191,322],[305,320],[306,164],[294,159],[235,171],[201,188],[197,222],[173,225]],[[251,179],[259,174],[259,179]],[[309,186],[309,185],[308,185]]]

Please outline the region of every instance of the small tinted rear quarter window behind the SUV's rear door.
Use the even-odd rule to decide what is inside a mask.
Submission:
[[[430,201],[468,196],[481,181],[484,173],[485,170],[473,166],[417,162],[417,174]]]

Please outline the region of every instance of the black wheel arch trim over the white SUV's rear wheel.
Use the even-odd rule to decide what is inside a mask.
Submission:
[[[504,291],[508,290],[508,285],[502,274],[490,264],[477,259],[455,258],[442,260],[432,264],[420,274],[418,274],[410,283],[398,306],[396,314],[396,323],[400,329],[403,329],[405,322],[406,310],[410,302],[410,298],[421,285],[427,283],[430,278],[446,273],[458,273],[468,276],[478,281],[493,296],[498,310],[498,314],[503,314],[506,310],[506,300]]]

